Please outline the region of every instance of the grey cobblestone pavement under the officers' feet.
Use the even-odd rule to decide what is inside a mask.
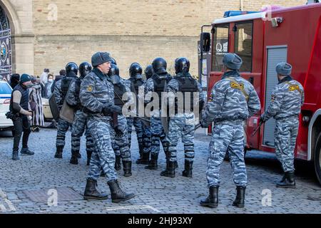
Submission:
[[[123,189],[135,192],[136,197],[121,204],[113,204],[111,199],[103,201],[82,199],[81,195],[86,185],[88,172],[84,138],[81,141],[82,158],[78,165],[71,165],[69,164],[70,132],[67,134],[62,160],[54,158],[56,142],[56,130],[54,129],[43,128],[39,133],[31,133],[29,147],[34,150],[35,155],[20,156],[19,161],[11,160],[13,138],[6,133],[0,134],[0,213],[321,212],[321,187],[310,164],[297,162],[297,189],[278,189],[275,187],[275,181],[280,179],[281,170],[275,156],[258,151],[248,152],[246,158],[249,185],[246,192],[245,209],[238,209],[231,205],[235,198],[235,185],[228,162],[223,162],[221,167],[218,208],[200,207],[200,199],[208,195],[205,170],[210,136],[206,136],[204,130],[198,130],[195,136],[196,155],[193,178],[181,176],[184,167],[183,145],[181,144],[178,149],[179,167],[173,179],[160,176],[161,170],[165,169],[163,151],[160,153],[158,170],[146,170],[144,165],[136,165],[138,145],[134,137],[132,142],[133,176],[123,177],[121,170],[118,172],[118,177]],[[98,180],[98,189],[110,193],[104,177]],[[58,202],[54,200],[56,193]]]

